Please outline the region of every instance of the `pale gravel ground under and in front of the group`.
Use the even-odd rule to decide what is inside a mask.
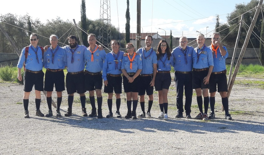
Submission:
[[[175,82],[171,86],[167,121],[157,118],[157,93],[154,93],[152,118],[132,120],[124,118],[127,112],[124,94],[121,95],[122,118],[82,117],[77,94],[73,116],[48,118],[34,115],[32,92],[30,118],[25,119],[21,104],[23,85],[0,83],[0,154],[264,154],[263,89],[234,85],[229,108],[230,112],[238,114],[232,114],[233,120],[224,119],[224,112],[220,112],[221,97],[217,94],[216,118],[201,121],[175,118]],[[53,95],[56,100],[55,93]],[[108,113],[105,93],[103,99],[105,117]],[[43,94],[40,109],[43,113],[48,111]],[[65,91],[62,115],[66,109]],[[89,113],[90,104],[87,109]],[[137,113],[140,113],[140,105]],[[53,114],[56,115],[55,108]],[[191,116],[197,114],[196,96],[193,96]]]

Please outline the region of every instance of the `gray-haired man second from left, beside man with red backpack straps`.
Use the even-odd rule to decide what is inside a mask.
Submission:
[[[47,69],[45,73],[44,91],[47,91],[48,113],[46,117],[53,116],[52,113],[52,91],[55,84],[57,92],[57,117],[61,117],[60,106],[62,100],[62,91],[65,90],[63,69],[67,66],[67,57],[65,49],[59,47],[58,37],[52,34],[49,38],[51,46],[43,54],[43,66]]]

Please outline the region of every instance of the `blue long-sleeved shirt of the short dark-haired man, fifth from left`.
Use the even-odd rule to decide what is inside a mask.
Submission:
[[[122,59],[123,55],[125,52],[123,51],[118,51],[117,54],[114,54],[114,52],[107,53],[105,56],[104,64],[103,64],[103,70],[102,70],[102,78],[104,81],[107,80],[107,74],[121,74],[121,64],[122,64]],[[115,58],[117,58],[117,61],[115,61]],[[116,65],[116,62],[117,65]]]

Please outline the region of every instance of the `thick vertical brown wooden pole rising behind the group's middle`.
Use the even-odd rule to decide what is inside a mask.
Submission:
[[[137,49],[136,50],[138,50],[141,47],[140,30],[141,30],[141,0],[137,0],[137,36],[136,36]]]

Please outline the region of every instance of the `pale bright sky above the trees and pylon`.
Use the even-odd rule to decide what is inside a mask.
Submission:
[[[86,15],[91,20],[100,19],[100,2],[103,0],[86,0]],[[32,4],[34,2],[34,4]],[[126,0],[108,0],[110,2],[111,24],[119,27],[125,33]],[[136,33],[137,0],[130,0],[130,33]],[[239,3],[248,3],[250,0],[141,0],[141,33],[157,33],[169,35],[172,30],[174,37],[189,35],[196,37],[199,31],[203,34],[212,34],[216,24],[216,14],[220,23],[226,23],[226,16]],[[0,14],[12,13],[46,20],[60,17],[63,20],[75,19],[80,21],[81,0],[9,0],[1,2]],[[31,6],[31,7],[29,7]],[[33,7],[34,6],[34,7]],[[106,17],[104,17],[106,18]],[[240,17],[239,17],[240,19]],[[73,21],[72,21],[73,23]],[[160,29],[159,29],[160,28]],[[162,30],[164,29],[164,30]]]

